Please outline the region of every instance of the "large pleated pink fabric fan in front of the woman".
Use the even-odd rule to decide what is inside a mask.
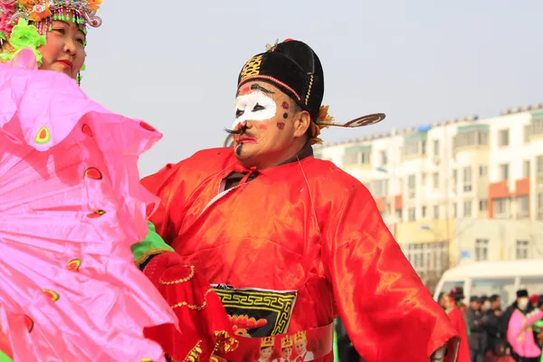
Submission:
[[[130,252],[156,201],[138,156],[161,135],[36,71],[30,51],[14,64],[0,64],[0,348],[24,362],[164,360],[143,328],[177,320]]]

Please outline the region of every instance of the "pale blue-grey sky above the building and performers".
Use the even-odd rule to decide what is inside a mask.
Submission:
[[[164,133],[147,175],[222,144],[238,72],[276,39],[319,54],[336,119],[386,113],[325,142],[541,102],[542,14],[541,0],[104,0],[82,86]]]

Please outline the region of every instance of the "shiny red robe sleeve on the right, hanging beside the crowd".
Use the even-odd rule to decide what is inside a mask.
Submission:
[[[349,338],[367,362],[428,360],[455,330],[388,232],[367,188],[346,177],[342,189],[341,205],[332,205],[320,222]]]

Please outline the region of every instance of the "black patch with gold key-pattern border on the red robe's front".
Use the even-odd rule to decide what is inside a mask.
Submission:
[[[212,285],[223,301],[238,336],[263,338],[286,333],[296,302],[296,291],[239,289]]]

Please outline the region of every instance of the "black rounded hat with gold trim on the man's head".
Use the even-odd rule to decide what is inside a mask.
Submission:
[[[324,95],[319,57],[306,43],[287,39],[253,56],[243,66],[238,88],[247,81],[267,81],[288,94],[311,119],[317,120]]]

